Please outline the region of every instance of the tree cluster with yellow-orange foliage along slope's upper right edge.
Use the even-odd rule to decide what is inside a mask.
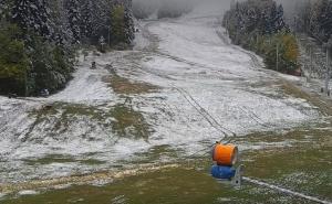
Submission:
[[[235,44],[261,55],[268,68],[288,74],[299,71],[297,40],[276,1],[232,1],[222,25]]]

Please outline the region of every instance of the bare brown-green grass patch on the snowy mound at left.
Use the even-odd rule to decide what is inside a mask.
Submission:
[[[25,140],[29,139],[29,135],[33,132],[35,127],[45,121],[52,121],[49,127],[50,133],[61,135],[69,131],[73,124],[84,120],[84,118],[89,118],[95,126],[102,126],[105,131],[110,128],[114,135],[123,138],[148,140],[153,132],[143,114],[135,110],[131,105],[118,104],[100,109],[85,105],[55,103],[33,110],[30,115],[35,118],[35,121],[30,127]]]

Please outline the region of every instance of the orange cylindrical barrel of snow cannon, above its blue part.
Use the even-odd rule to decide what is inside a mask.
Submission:
[[[218,165],[232,167],[238,161],[238,148],[231,144],[217,142],[212,149],[212,160]]]

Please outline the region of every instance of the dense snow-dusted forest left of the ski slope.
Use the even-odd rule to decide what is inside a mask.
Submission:
[[[83,45],[131,44],[131,0],[1,0],[0,94],[64,88]]]

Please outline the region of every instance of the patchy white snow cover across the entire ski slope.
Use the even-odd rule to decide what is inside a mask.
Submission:
[[[229,45],[227,36],[220,39],[216,21],[190,14],[144,23],[135,51],[91,54],[80,61],[73,80],[59,94],[31,100],[0,97],[0,182],[110,169],[142,159],[137,153],[163,144],[179,152],[188,149],[186,153],[206,148],[222,133],[186,97],[197,100],[228,133],[278,130],[319,117],[307,101],[270,85],[277,78],[261,69],[261,60]],[[149,50],[155,43],[152,35],[159,39],[157,51]],[[107,112],[124,99],[103,82],[110,63],[124,76],[160,87],[157,93],[132,96],[135,110],[154,129],[148,141],[112,131],[116,121]],[[56,112],[33,111],[52,103],[58,103]]]

